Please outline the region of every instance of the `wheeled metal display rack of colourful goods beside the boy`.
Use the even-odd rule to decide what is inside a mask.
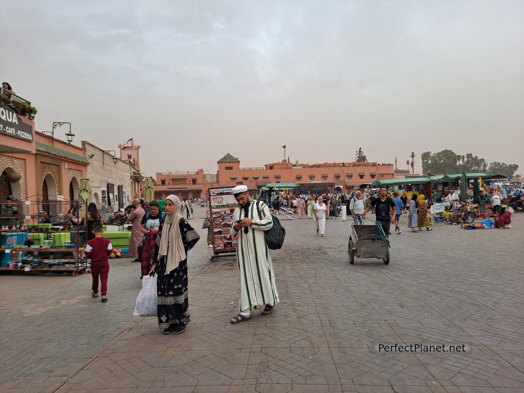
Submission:
[[[73,215],[68,212],[74,206],[78,218],[78,201],[0,201],[0,273],[84,274],[89,267],[80,259],[84,245],[72,241],[85,230],[71,225]],[[35,244],[26,244],[27,237]]]

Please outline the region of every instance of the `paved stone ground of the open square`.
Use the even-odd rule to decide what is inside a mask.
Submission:
[[[196,209],[200,228],[203,209]],[[233,258],[190,252],[190,311],[181,335],[132,315],[139,266],[111,262],[109,302],[90,278],[0,276],[0,391],[524,392],[522,225],[465,231],[435,224],[390,235],[391,262],[348,263],[350,222],[282,219],[272,252],[280,303],[232,325]],[[470,343],[472,353],[370,351],[373,342]]]

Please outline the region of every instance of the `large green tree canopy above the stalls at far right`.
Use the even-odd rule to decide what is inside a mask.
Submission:
[[[516,164],[506,164],[504,162],[492,162],[489,164],[484,158],[478,158],[468,153],[465,156],[456,154],[453,150],[442,150],[436,153],[426,151],[422,153],[422,171],[430,171],[434,174],[484,172],[488,174],[503,174],[508,179],[513,177],[519,168]]]

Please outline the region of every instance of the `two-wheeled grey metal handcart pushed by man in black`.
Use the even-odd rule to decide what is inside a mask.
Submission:
[[[384,230],[379,225],[351,225],[352,231],[348,244],[350,264],[357,258],[382,259],[389,265],[389,241]]]

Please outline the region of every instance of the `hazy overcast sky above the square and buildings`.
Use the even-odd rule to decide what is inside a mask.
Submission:
[[[524,2],[0,0],[0,75],[140,169],[422,152],[524,172]],[[64,127],[56,136],[65,140]]]

